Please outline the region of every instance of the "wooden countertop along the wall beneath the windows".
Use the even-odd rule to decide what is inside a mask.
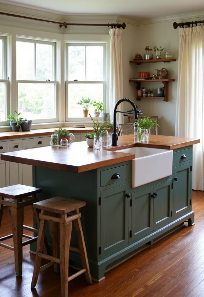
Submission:
[[[14,139],[14,138],[25,138],[25,137],[37,137],[37,136],[46,136],[54,134],[54,129],[56,128],[48,128],[48,129],[35,129],[31,131],[19,131],[19,132],[0,132],[0,140],[4,139]],[[70,133],[81,133],[81,132],[92,132],[93,127],[85,127],[85,128],[73,128],[73,127],[62,127],[62,129],[69,130]]]

